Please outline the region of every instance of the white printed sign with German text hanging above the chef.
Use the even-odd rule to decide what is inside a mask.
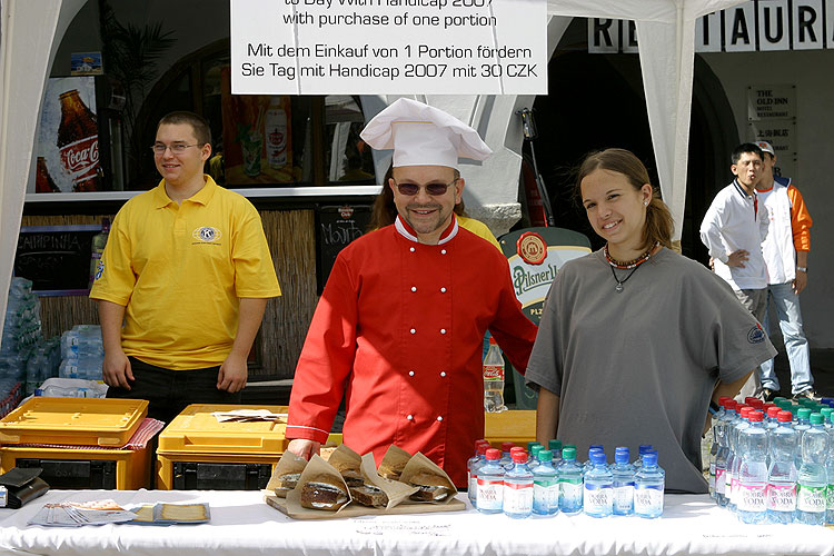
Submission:
[[[546,0],[230,0],[235,95],[546,95]]]

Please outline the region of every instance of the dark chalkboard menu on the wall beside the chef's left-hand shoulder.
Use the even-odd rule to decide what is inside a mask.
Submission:
[[[368,224],[368,205],[320,206],[316,210],[316,284],[319,295],[339,251],[361,236]]]

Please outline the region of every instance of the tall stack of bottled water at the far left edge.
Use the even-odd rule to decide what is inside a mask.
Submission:
[[[40,300],[32,294],[32,282],[16,276],[9,287],[0,339],[0,399],[26,380],[27,361],[41,339]]]

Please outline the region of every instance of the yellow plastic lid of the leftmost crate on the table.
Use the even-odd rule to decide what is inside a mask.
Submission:
[[[33,397],[0,419],[0,444],[125,446],[147,415],[145,399]]]

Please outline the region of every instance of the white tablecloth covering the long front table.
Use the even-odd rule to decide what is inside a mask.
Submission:
[[[466,495],[458,495],[466,499]],[[151,527],[27,526],[46,503],[112,498],[122,505],[207,502],[211,523]],[[468,500],[467,500],[468,505]],[[259,492],[52,490],[22,509],[0,509],[0,555],[211,556],[559,554],[834,554],[834,529],[745,525],[707,496],[667,495],[659,519],[585,515],[509,519],[466,512],[300,522]]]

